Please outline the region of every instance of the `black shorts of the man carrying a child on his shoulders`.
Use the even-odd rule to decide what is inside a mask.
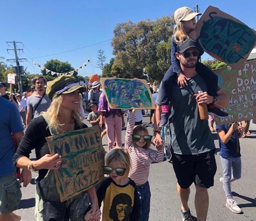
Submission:
[[[193,182],[203,188],[213,186],[217,170],[214,153],[215,149],[198,155],[173,153],[173,169],[181,188],[187,189]]]

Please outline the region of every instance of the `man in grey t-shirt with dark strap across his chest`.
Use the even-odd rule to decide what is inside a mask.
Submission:
[[[51,104],[51,100],[45,94],[46,79],[37,76],[32,82],[35,85],[36,92],[27,100],[26,126],[29,125],[31,119],[39,117],[42,111],[47,111]]]

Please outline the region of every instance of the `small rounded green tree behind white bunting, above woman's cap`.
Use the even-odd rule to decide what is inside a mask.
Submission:
[[[66,72],[74,71],[74,68],[67,61],[62,62],[57,59],[55,59],[55,60],[51,59],[51,60],[47,61],[44,65],[44,67],[47,68],[48,70],[50,70],[52,72],[56,72],[56,73],[66,73]],[[56,74],[54,76],[52,76],[51,72],[46,73],[45,69],[42,70],[41,72],[44,76],[50,76],[51,80],[58,77]],[[73,75],[77,76],[77,74],[78,74],[78,72],[74,71]]]

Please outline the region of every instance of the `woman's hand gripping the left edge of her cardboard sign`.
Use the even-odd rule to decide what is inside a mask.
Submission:
[[[33,162],[33,167],[37,170],[48,169],[48,170],[58,170],[61,165],[61,156],[59,154],[50,155],[46,154],[39,160]]]

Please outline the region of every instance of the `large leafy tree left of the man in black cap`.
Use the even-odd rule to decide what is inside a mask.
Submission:
[[[137,24],[117,24],[111,45],[116,55],[111,74],[123,78],[145,78],[160,81],[171,66],[171,36],[174,20],[164,16]]]

